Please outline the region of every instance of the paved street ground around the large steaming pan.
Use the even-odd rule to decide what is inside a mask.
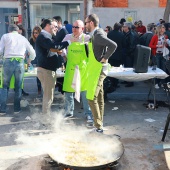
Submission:
[[[67,130],[89,131],[78,103],[76,103],[75,115],[71,122],[60,124],[58,117],[58,121],[55,120],[56,126],[53,128],[55,131],[44,129],[38,123],[41,104],[35,100],[37,93],[35,79],[26,79],[24,89],[30,95],[23,99],[29,101],[30,105],[23,108],[19,115],[13,115],[13,91],[10,91],[8,114],[0,117],[0,170],[40,169],[37,162],[40,162],[41,158],[38,156],[46,153],[44,150],[39,150],[39,145],[34,142],[41,143],[42,138],[56,133],[56,128],[60,129],[60,132],[64,126]],[[125,149],[119,161],[119,170],[168,170],[163,147],[170,141],[169,132],[165,143],[161,142],[168,108],[159,106],[156,110],[147,109],[143,104],[147,103],[148,91],[148,82],[137,82],[131,88],[125,88],[121,84],[116,92],[108,95],[105,103],[104,127],[108,130],[104,133],[120,135]],[[166,94],[162,89],[156,90],[156,93],[157,100],[166,101]],[[54,117],[61,112],[62,107],[63,96],[58,95],[52,106]],[[27,138],[23,133],[29,134],[29,137]]]

